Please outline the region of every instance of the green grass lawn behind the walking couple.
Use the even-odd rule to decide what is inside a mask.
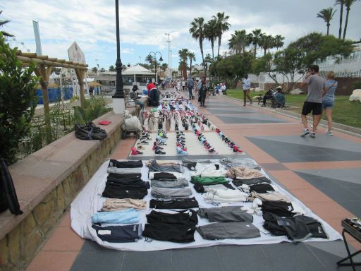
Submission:
[[[263,94],[264,92],[250,92],[250,97]],[[243,100],[243,91],[240,89],[227,90],[227,95]],[[348,97],[343,95],[336,96],[332,118],[338,124],[361,128],[361,103],[349,102]],[[302,105],[305,100],[306,95],[286,95],[286,104],[292,107],[288,110],[301,114]],[[326,116],[322,115],[322,119],[326,119]]]

